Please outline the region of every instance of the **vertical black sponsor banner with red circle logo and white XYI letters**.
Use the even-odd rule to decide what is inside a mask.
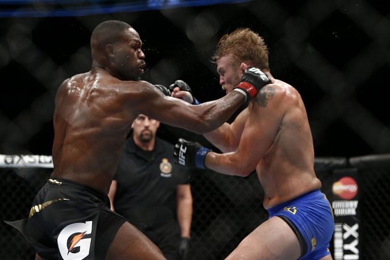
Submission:
[[[357,169],[333,171],[334,260],[359,259],[359,185]]]

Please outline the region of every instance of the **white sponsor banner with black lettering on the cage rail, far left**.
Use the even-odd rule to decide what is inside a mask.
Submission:
[[[51,155],[3,155],[0,154],[1,168],[53,168]]]

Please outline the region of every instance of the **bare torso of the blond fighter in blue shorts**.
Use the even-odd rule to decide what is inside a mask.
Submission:
[[[263,205],[266,209],[321,187],[313,169],[312,133],[303,101],[299,93],[283,81],[275,80],[272,86],[274,97],[265,93],[263,100],[257,98],[251,102],[248,107],[250,123],[245,125],[253,127],[255,125],[251,123],[256,124],[259,119],[271,121],[264,114],[265,109],[273,109],[280,116],[274,121],[276,135],[256,166],[265,192]],[[260,125],[255,127],[260,127],[261,132]]]

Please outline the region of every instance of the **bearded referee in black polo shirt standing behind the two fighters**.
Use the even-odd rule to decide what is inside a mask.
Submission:
[[[173,145],[156,137],[160,122],[138,115],[108,194],[111,209],[137,226],[168,260],[186,259],[193,199],[188,170]]]

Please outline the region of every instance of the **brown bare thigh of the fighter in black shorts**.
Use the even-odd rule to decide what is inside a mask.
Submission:
[[[158,247],[129,222],[124,222],[112,241],[106,260],[164,260]]]

